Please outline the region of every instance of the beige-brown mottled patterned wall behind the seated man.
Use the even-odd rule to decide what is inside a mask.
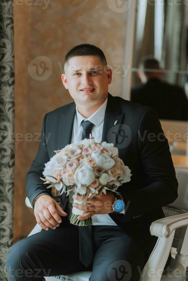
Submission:
[[[107,0],[48,2],[14,2],[16,133],[21,133],[16,135],[14,242],[26,237],[36,223],[25,205],[25,177],[39,146],[34,134],[41,132],[46,112],[73,101],[61,81],[66,52],[90,43],[104,51],[113,71],[124,61],[126,12],[112,11]],[[41,62],[46,65],[41,64],[37,74]],[[109,88],[114,96],[122,95],[124,72],[121,67],[118,71]]]

